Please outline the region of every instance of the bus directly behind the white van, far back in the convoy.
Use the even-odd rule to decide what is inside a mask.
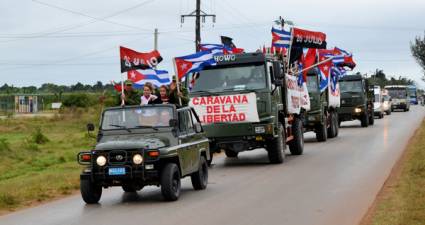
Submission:
[[[388,85],[385,86],[385,89],[392,99],[391,111],[395,109],[402,109],[405,112],[410,110],[410,96],[406,85]]]

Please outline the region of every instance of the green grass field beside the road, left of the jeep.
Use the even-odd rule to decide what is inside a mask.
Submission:
[[[86,124],[97,124],[99,112],[75,109],[52,118],[0,120],[0,212],[79,188],[76,155],[95,143]]]

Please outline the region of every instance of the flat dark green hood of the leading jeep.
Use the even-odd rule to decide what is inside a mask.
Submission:
[[[158,136],[111,135],[103,136],[97,143],[95,150],[158,149],[169,144],[170,141],[167,138]]]

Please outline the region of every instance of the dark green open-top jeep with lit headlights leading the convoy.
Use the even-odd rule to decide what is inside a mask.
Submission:
[[[87,128],[93,131],[94,125]],[[108,108],[102,113],[96,146],[78,154],[78,162],[86,166],[80,175],[81,195],[93,204],[102,188],[121,186],[135,192],[156,185],[165,200],[174,201],[183,177],[190,176],[195,190],[207,187],[209,157],[208,139],[192,108]]]

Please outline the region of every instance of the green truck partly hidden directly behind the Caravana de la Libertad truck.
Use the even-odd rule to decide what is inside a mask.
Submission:
[[[329,79],[330,80],[330,79]],[[316,69],[307,73],[307,89],[310,96],[310,111],[306,112],[305,131],[314,131],[317,141],[338,136],[338,109],[340,107],[339,84],[331,82],[321,92]]]

